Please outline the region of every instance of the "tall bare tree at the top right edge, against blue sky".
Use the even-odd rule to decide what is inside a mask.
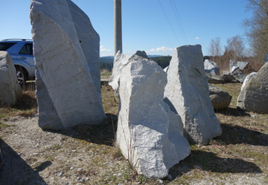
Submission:
[[[252,11],[253,15],[243,22],[246,36],[255,56],[264,62],[268,52],[268,1],[245,1],[247,1],[247,11]]]

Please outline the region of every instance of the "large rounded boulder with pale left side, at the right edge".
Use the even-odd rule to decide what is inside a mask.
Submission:
[[[246,111],[268,113],[268,63],[247,82],[237,99],[237,106]]]

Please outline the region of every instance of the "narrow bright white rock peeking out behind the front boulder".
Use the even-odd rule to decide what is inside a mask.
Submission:
[[[117,90],[119,88],[119,79],[120,79],[120,71],[122,67],[127,64],[130,56],[121,53],[121,51],[117,52],[117,55],[114,58],[114,66],[112,68],[112,76],[109,79],[109,86],[112,86],[113,90]]]

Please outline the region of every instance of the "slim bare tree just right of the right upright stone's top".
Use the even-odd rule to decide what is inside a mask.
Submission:
[[[221,56],[221,38],[216,37],[210,40],[210,47],[208,48],[208,52],[210,56],[212,56],[212,60],[214,62],[220,63],[220,56]]]

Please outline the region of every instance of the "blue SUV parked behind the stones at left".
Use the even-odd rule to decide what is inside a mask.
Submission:
[[[36,68],[34,66],[33,41],[29,39],[0,40],[0,51],[8,51],[15,68],[19,84],[34,79]]]

